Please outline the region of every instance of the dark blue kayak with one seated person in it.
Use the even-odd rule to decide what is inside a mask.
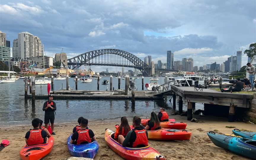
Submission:
[[[94,158],[99,150],[97,141],[93,141],[92,143],[87,144],[74,145],[70,144],[71,136],[72,135],[70,135],[67,139],[68,151],[71,156]]]

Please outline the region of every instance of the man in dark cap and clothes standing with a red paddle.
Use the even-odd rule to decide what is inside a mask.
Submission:
[[[52,134],[55,135],[54,130],[54,119],[55,119],[55,115],[54,112],[56,111],[57,107],[56,107],[56,103],[52,101],[53,100],[53,95],[50,94],[49,95],[49,101],[44,102],[43,105],[43,111],[44,113],[44,127],[47,128],[48,127],[48,123],[51,123],[51,128],[52,128]]]

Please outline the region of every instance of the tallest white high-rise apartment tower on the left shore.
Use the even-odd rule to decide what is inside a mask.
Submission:
[[[32,59],[34,54],[34,35],[28,32],[18,34],[19,58]]]

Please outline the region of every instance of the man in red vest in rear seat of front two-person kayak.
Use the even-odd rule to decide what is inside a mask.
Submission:
[[[140,117],[133,117],[132,126],[133,130],[130,130],[126,137],[123,135],[118,136],[118,141],[123,147],[141,148],[148,146],[148,132],[140,126]]]

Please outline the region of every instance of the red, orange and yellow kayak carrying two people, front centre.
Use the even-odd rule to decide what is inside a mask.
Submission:
[[[120,143],[111,138],[111,135],[114,134],[112,130],[106,128],[105,132],[105,141],[109,148],[114,152],[119,154],[127,160],[165,160],[163,156],[160,155],[158,151],[150,146],[143,148],[128,148],[123,147]]]

